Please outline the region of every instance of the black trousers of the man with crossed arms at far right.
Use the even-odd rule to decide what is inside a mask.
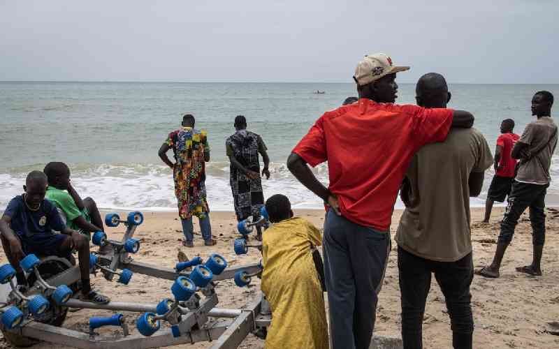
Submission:
[[[546,239],[545,198],[549,184],[529,184],[514,181],[509,194],[507,209],[501,222],[500,244],[510,244],[518,218],[530,207],[532,244],[542,246]]]

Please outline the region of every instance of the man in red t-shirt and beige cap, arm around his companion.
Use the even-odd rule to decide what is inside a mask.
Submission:
[[[324,222],[324,267],[334,349],[369,348],[377,294],[391,248],[393,205],[414,153],[442,142],[451,126],[471,127],[469,112],[393,104],[396,73],[386,54],[357,65],[358,103],[320,117],[293,149],[287,166],[330,207]],[[328,161],[330,185],[307,163]]]

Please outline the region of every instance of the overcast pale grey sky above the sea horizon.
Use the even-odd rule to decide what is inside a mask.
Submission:
[[[559,1],[0,0],[0,80],[559,83]]]

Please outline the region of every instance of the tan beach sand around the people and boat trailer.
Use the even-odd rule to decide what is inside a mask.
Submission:
[[[393,215],[392,234],[398,225],[400,211]],[[324,211],[298,210],[319,228],[324,223]],[[481,267],[491,262],[498,236],[498,221],[502,209],[495,208],[492,221],[481,225],[482,209],[472,211],[472,240],[474,246],[474,266]],[[173,267],[177,262],[177,252],[184,251],[189,258],[201,255],[206,258],[217,252],[228,260],[229,265],[244,265],[258,261],[261,256],[254,249],[245,256],[233,252],[233,239],[237,236],[235,217],[231,212],[213,212],[212,230],[217,239],[216,246],[203,246],[197,222],[195,222],[195,247],[184,248],[180,244],[182,232],[180,221],[173,213],[145,214],[145,221],[136,231],[141,240],[140,252],[135,259],[164,267]],[[196,219],[195,219],[196,221]],[[533,277],[518,274],[515,267],[527,265],[532,258],[531,230],[528,216],[523,216],[516,229],[516,236],[505,255],[501,278],[497,280],[474,277],[472,284],[472,308],[474,311],[474,348],[559,348],[559,336],[550,334],[553,328],[548,322],[559,321],[559,261],[558,228],[559,211],[548,210],[547,237],[542,261],[543,276]],[[124,228],[110,228],[110,237],[119,239]],[[1,262],[6,262],[1,256]],[[108,282],[101,276],[93,279],[95,287],[113,300],[127,302],[158,302],[170,296],[172,281],[152,279],[135,274],[129,285]],[[219,307],[240,308],[259,292],[259,281],[253,281],[248,288],[238,288],[233,281],[220,281],[217,285]],[[109,311],[80,310],[68,313],[64,327],[87,331],[88,319],[94,315],[110,315]],[[126,313],[132,328],[138,314]],[[557,329],[556,329],[557,331]],[[102,329],[103,334],[117,333],[118,329]],[[379,335],[399,335],[400,332],[400,290],[396,250],[393,243],[386,279],[379,299],[375,333]],[[1,348],[10,346],[1,339]],[[423,343],[425,348],[451,348],[451,330],[444,297],[433,278],[423,322]],[[211,343],[176,346],[175,348],[209,348]],[[34,348],[52,348],[48,343],[39,343]],[[249,335],[240,348],[263,348],[263,341]]]

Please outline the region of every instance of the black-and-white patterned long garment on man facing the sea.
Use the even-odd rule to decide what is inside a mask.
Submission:
[[[231,164],[229,183],[237,219],[242,221],[249,216],[256,218],[260,216],[260,209],[264,205],[258,154],[266,150],[266,144],[256,133],[240,130],[227,138],[225,147],[227,156],[234,156],[245,168],[259,174],[258,178],[251,179]]]

